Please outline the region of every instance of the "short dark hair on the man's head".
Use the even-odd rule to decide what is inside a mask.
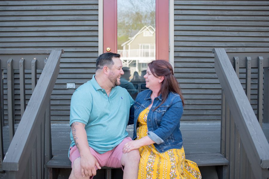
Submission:
[[[96,59],[96,71],[99,69],[103,69],[104,66],[111,67],[114,65],[112,60],[113,57],[120,58],[120,54],[117,53],[103,53]]]

